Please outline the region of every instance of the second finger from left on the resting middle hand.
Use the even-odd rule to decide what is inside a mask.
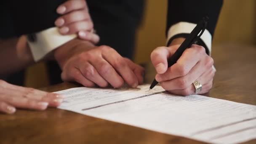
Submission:
[[[82,72],[84,77],[86,77],[88,80],[91,80],[93,83],[96,83],[100,87],[105,88],[108,86],[107,81],[104,80],[104,78],[99,75],[97,70],[88,62],[80,65],[80,71]]]

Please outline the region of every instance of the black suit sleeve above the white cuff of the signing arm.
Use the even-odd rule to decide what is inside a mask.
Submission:
[[[173,24],[181,21],[197,24],[208,16],[206,29],[213,37],[222,3],[223,0],[168,0],[166,33]]]

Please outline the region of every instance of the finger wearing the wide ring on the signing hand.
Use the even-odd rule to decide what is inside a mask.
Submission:
[[[200,91],[197,94],[203,94],[207,93],[213,85],[213,77],[215,75],[214,69],[209,69],[207,72],[203,73],[197,81],[200,82],[202,85],[202,91]],[[184,88],[182,90],[171,90],[170,93],[176,94],[176,95],[182,95],[182,96],[188,96],[191,94],[195,94],[195,86],[191,84],[188,88]]]

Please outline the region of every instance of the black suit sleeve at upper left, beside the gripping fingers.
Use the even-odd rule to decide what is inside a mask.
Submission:
[[[10,0],[11,16],[17,35],[39,32],[54,26],[56,8],[66,0]]]

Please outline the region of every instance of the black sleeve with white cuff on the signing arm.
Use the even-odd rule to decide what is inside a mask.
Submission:
[[[211,41],[223,0],[168,0],[166,35],[168,43],[176,37],[185,37],[203,17],[208,16],[206,31],[197,42],[211,53]]]

